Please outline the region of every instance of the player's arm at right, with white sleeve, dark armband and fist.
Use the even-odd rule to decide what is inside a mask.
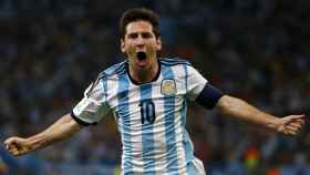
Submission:
[[[187,94],[206,109],[218,109],[221,114],[264,125],[286,135],[296,135],[304,124],[304,115],[277,117],[265,113],[247,102],[224,94],[214,87],[193,66],[187,66]]]

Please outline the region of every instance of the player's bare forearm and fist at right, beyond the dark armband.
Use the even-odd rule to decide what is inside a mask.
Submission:
[[[286,117],[277,117],[268,113],[261,112],[251,106],[247,102],[229,95],[221,96],[217,104],[217,109],[224,115],[249,121],[251,123],[264,125],[273,131],[286,135],[296,135],[304,124],[304,115],[289,115]]]

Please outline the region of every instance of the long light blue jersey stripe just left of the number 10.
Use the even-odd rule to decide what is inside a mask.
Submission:
[[[130,82],[124,74],[118,75],[118,93],[117,93],[117,115],[122,121],[122,137],[123,137],[123,167],[124,174],[131,174],[133,172],[132,163],[132,141],[131,141],[131,119],[128,106],[128,87]]]

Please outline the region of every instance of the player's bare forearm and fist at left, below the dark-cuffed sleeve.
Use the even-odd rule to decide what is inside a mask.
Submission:
[[[4,146],[12,155],[19,156],[68,138],[80,130],[80,124],[66,114],[39,134],[27,138],[9,137],[4,141]]]

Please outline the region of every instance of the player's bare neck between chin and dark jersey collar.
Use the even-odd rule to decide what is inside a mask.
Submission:
[[[158,71],[159,71],[158,62],[154,63],[147,70],[135,70],[130,65],[130,74],[132,79],[138,84],[152,82],[156,78]]]

